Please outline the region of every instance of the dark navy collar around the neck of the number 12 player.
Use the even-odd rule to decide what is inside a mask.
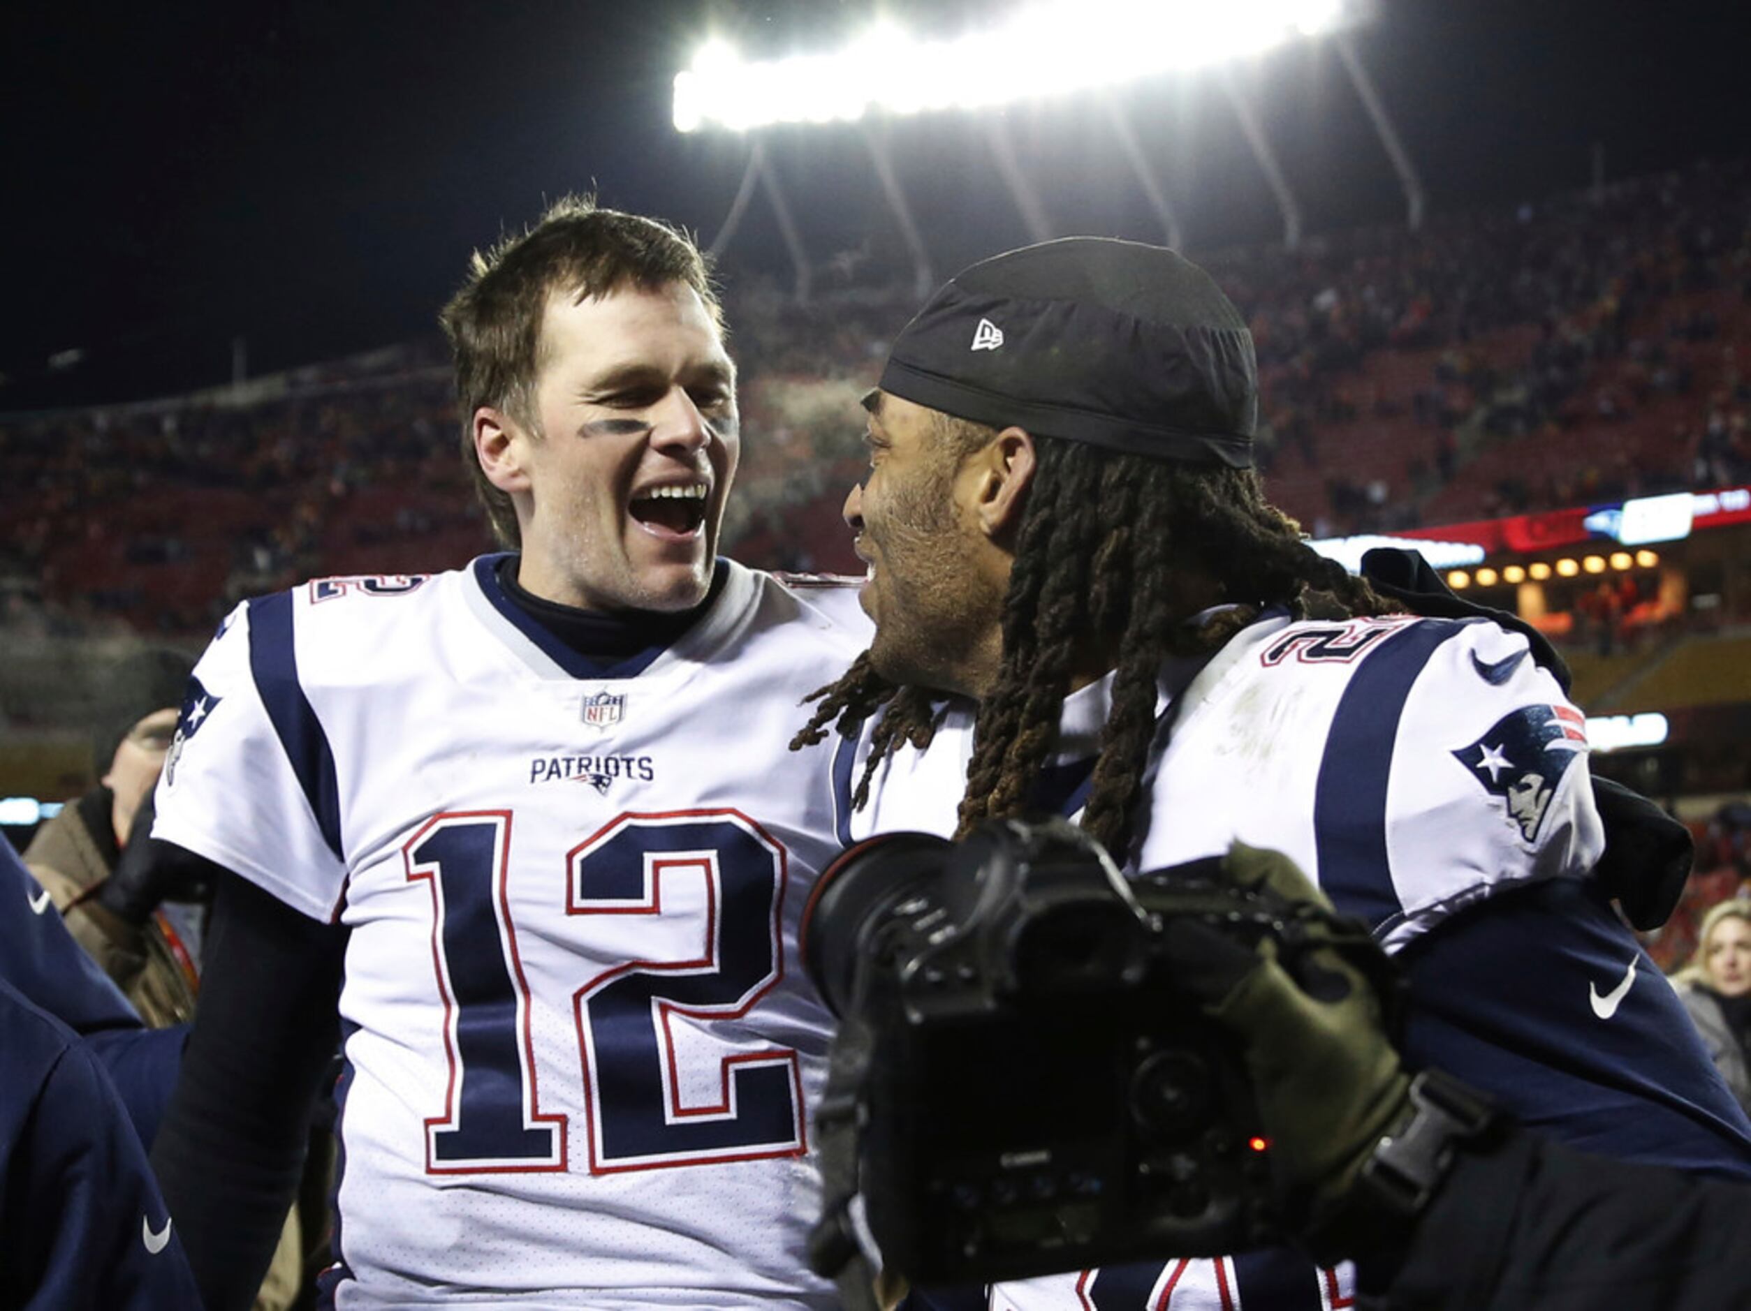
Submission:
[[[643,674],[711,609],[728,565],[718,560],[711,592],[690,611],[587,611],[534,595],[517,581],[515,553],[475,560],[475,579],[492,607],[573,677],[623,679]]]

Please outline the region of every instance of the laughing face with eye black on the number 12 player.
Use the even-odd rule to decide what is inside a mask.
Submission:
[[[518,581],[587,609],[706,599],[741,438],[735,366],[683,284],[553,296],[534,410],[517,432]]]

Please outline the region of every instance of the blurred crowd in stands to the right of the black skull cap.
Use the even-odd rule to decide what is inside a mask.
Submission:
[[[1283,497],[1317,536],[1751,474],[1742,161],[1205,263],[1257,341],[1268,471],[1324,492]],[[1350,457],[1382,446],[1387,471]]]

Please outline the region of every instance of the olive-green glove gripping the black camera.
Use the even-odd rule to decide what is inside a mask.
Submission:
[[[1331,912],[1275,851],[1236,842],[1222,868],[1241,887]],[[1375,987],[1329,945],[1297,952],[1299,977],[1290,977],[1271,938],[1248,950],[1187,917],[1168,921],[1164,943],[1173,980],[1245,1045],[1290,1232],[1317,1255],[1354,1255],[1376,1237],[1369,1208],[1352,1204],[1357,1180],[1380,1139],[1411,1115],[1411,1080]]]

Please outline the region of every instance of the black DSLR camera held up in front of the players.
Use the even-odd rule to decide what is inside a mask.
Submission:
[[[965,842],[888,833],[816,884],[804,964],[840,1020],[816,1117],[814,1264],[854,1255],[853,1197],[914,1285],[1021,1279],[1275,1241],[1269,1143],[1240,1047],[1175,987],[1191,915],[1296,971],[1375,973],[1366,928],[1222,879],[1220,858],[1126,879],[1061,821]],[[1383,980],[1382,980],[1383,982]]]

